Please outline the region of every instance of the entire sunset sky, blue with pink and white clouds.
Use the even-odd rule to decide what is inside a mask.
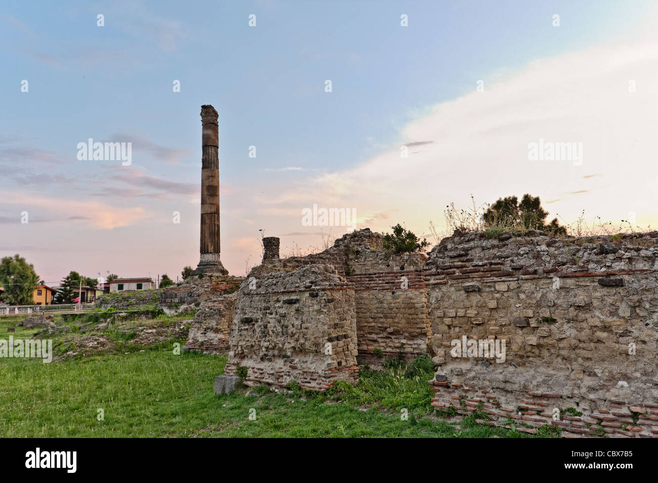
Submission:
[[[657,14],[605,0],[3,1],[0,256],[51,285],[195,267],[201,104],[219,113],[232,275],[260,262],[263,233],[287,256],[353,229],[303,223],[314,204],[433,243],[430,221],[442,231],[445,206],[471,195],[655,227]],[[78,159],[88,139],[132,143],[130,165]],[[536,159],[532,143],[573,151]]]

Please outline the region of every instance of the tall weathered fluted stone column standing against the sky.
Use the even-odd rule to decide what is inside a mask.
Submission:
[[[228,275],[219,260],[219,126],[209,104],[201,106],[201,126],[201,256],[192,274]]]

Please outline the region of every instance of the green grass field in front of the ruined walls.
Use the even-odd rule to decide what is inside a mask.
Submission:
[[[0,338],[9,321],[0,320]],[[11,325],[16,321],[11,321]],[[19,331],[22,337],[34,331]],[[0,359],[1,437],[525,437],[436,416],[432,374],[364,370],[326,394],[260,386],[213,394],[226,357],[174,355],[172,341],[130,354],[42,363]],[[103,409],[99,421],[99,409]],[[401,409],[407,409],[403,421]],[[255,420],[249,415],[255,415]]]

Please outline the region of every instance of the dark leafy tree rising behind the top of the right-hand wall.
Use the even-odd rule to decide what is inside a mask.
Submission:
[[[567,235],[567,229],[559,225],[557,218],[546,224],[548,212],[542,208],[539,196],[528,195],[521,198],[506,196],[498,198],[484,212],[484,222],[492,227],[508,227],[526,230],[542,230],[554,235]]]

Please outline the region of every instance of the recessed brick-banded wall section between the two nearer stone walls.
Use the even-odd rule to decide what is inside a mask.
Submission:
[[[347,233],[317,254],[267,260],[249,277],[293,272],[308,264],[336,268],[355,290],[359,359],[377,364],[386,358],[413,359],[431,344],[424,254],[390,254],[382,235],[370,229]],[[378,356],[375,353],[381,351]]]

